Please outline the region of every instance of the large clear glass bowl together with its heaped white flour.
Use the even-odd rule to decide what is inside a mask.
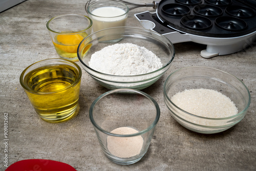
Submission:
[[[82,68],[110,90],[142,90],[170,67],[175,50],[163,35],[146,29],[115,27],[84,38],[77,49]]]

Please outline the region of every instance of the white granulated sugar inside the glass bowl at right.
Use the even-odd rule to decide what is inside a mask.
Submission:
[[[207,118],[224,118],[238,113],[233,101],[216,90],[184,90],[175,94],[171,100],[180,109]]]

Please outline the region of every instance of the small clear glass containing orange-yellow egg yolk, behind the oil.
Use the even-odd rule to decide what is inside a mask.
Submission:
[[[77,47],[83,38],[91,34],[91,18],[79,14],[53,17],[47,22],[54,48],[64,59],[77,61]]]

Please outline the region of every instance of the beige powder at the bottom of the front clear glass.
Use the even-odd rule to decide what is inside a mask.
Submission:
[[[132,127],[118,127],[111,131],[113,134],[127,135],[138,133]],[[119,158],[129,158],[140,154],[143,146],[143,138],[139,135],[136,137],[114,137],[107,138],[108,149],[111,154]]]

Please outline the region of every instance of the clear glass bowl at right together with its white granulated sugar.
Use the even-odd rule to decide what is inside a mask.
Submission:
[[[244,118],[250,101],[250,92],[242,81],[214,68],[183,68],[170,74],[164,83],[164,102],[170,114],[197,133],[229,129]]]

